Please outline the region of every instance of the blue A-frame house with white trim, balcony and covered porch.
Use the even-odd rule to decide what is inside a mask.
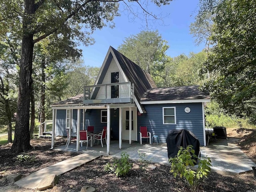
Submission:
[[[110,46],[93,86],[84,94],[52,104],[53,133],[66,136],[66,128],[79,131],[94,126],[107,127],[107,153],[110,139],[140,140],[140,126],[166,142],[169,130],[186,129],[206,145],[204,106],[208,93],[198,86],[156,88],[150,74]],[[77,141],[79,150],[79,141]],[[54,147],[54,136],[52,137]]]

